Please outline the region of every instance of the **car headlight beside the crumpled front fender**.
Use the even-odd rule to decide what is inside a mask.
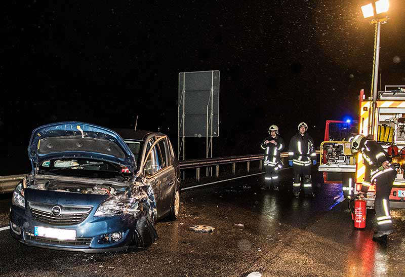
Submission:
[[[127,196],[110,196],[98,207],[94,216],[114,216],[121,213],[136,214],[138,202]]]

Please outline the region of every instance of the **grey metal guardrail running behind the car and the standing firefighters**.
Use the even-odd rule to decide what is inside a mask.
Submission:
[[[319,154],[319,150],[316,151]],[[281,158],[288,157],[288,153],[284,152],[280,154]],[[180,170],[185,169],[196,169],[196,181],[200,180],[200,168],[201,167],[216,167],[215,176],[219,176],[219,166],[225,164],[232,164],[232,173],[235,174],[236,163],[246,162],[247,173],[250,172],[250,162],[260,161],[259,170],[263,167],[263,154],[254,155],[241,155],[241,156],[229,156],[229,157],[216,157],[208,159],[197,159],[180,161]],[[18,182],[24,178],[27,174],[10,175],[10,176],[0,176],[0,193],[12,192]],[[208,173],[207,173],[208,175]]]

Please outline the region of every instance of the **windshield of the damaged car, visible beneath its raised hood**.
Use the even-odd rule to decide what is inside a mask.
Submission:
[[[54,159],[41,163],[43,174],[109,179],[130,176],[128,168],[93,159]]]

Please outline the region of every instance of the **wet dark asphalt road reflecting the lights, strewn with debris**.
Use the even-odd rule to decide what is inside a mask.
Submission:
[[[159,240],[141,252],[84,254],[21,245],[0,231],[0,274],[12,276],[404,276],[405,211],[393,209],[388,245],[356,230],[341,185],[313,174],[316,197],[292,197],[291,170],[281,191],[262,190],[263,175],[187,190],[174,222],[158,222]],[[286,189],[286,188],[289,188]],[[9,195],[10,196],[10,195]],[[7,225],[7,196],[0,199],[0,226]],[[193,225],[215,227],[195,233]],[[244,224],[244,227],[235,224]]]

